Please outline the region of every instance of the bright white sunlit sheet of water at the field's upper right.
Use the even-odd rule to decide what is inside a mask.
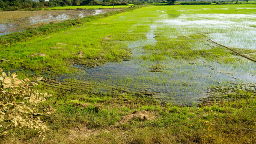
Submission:
[[[183,35],[207,34],[224,46],[256,49],[255,14],[181,14],[160,20]]]

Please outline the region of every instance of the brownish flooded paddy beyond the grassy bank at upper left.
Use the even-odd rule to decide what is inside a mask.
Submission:
[[[0,36],[50,22],[79,19],[116,10],[118,9],[0,11]]]

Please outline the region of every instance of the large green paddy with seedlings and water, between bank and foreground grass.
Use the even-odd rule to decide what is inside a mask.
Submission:
[[[256,59],[255,5],[239,6],[145,7],[17,44],[8,52],[25,56],[23,62],[2,56],[44,76],[59,71],[53,78],[61,82],[93,83],[102,94],[118,88],[196,104],[213,86],[256,82],[255,62],[209,40]]]

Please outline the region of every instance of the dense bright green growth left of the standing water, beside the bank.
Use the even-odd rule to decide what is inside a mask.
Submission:
[[[112,14],[116,13],[114,12]],[[120,16],[97,20],[112,14],[100,14],[95,17],[68,20],[62,23],[49,24],[35,29],[32,28],[25,32],[3,36],[1,37],[2,41],[10,41],[11,44],[9,43],[7,46],[5,44],[1,45],[3,48],[2,57],[10,59],[10,62],[2,63],[2,67],[5,70],[22,68],[26,71],[32,71],[35,74],[57,74],[70,73],[73,69],[70,67],[72,64],[96,67],[108,61],[126,59],[129,57],[129,50],[126,49],[126,46],[122,43],[112,43],[112,41],[124,39],[136,40],[142,37],[143,34],[126,35],[130,26],[138,22],[136,20],[127,22],[122,26],[120,26],[122,22],[116,20]],[[75,27],[72,23],[80,25],[80,27]],[[84,23],[84,25],[81,23]],[[46,29],[47,31],[44,32],[42,29]],[[59,31],[58,29],[67,30]],[[94,30],[91,31],[92,29]],[[31,41],[24,41],[27,37],[34,36],[33,31],[35,31],[35,35],[48,35],[33,38]],[[59,32],[49,34],[54,31]],[[20,40],[23,42],[17,44],[12,43],[13,41]],[[82,52],[81,56],[79,56],[80,51]],[[46,56],[31,57],[31,55],[37,53],[45,53]]]

